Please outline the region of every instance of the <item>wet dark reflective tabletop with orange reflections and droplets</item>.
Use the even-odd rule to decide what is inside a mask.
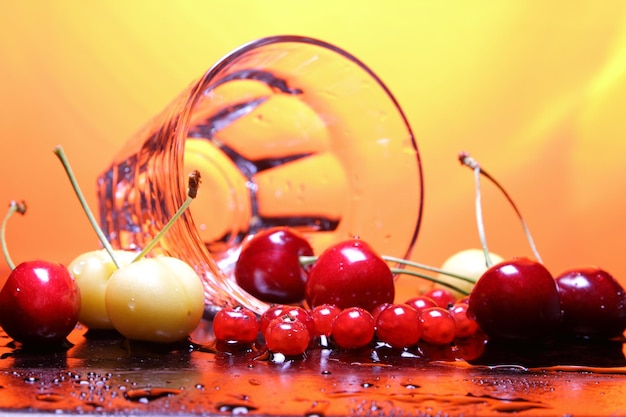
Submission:
[[[398,352],[310,349],[286,359],[262,344],[129,343],[77,328],[71,346],[24,351],[0,333],[0,411],[16,414],[273,416],[626,415],[622,341]],[[565,346],[567,345],[567,347]],[[470,355],[471,356],[471,355]],[[427,359],[428,357],[428,359]]]

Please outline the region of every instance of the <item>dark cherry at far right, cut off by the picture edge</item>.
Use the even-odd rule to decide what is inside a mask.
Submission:
[[[586,267],[556,277],[566,335],[590,338],[619,336],[626,328],[626,296],[608,272]]]

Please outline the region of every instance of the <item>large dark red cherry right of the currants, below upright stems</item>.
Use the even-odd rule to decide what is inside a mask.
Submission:
[[[528,258],[500,262],[476,282],[469,314],[490,339],[550,338],[561,316],[556,282],[545,266]]]

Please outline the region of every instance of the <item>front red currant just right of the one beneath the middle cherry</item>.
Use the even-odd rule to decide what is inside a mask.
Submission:
[[[407,304],[394,304],[378,314],[376,336],[391,347],[413,346],[421,335],[420,314]]]

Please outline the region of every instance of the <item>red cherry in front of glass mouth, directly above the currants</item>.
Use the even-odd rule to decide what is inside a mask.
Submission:
[[[393,302],[393,274],[387,263],[364,241],[349,239],[326,249],[313,264],[306,283],[312,307],[333,304],[371,312]]]

